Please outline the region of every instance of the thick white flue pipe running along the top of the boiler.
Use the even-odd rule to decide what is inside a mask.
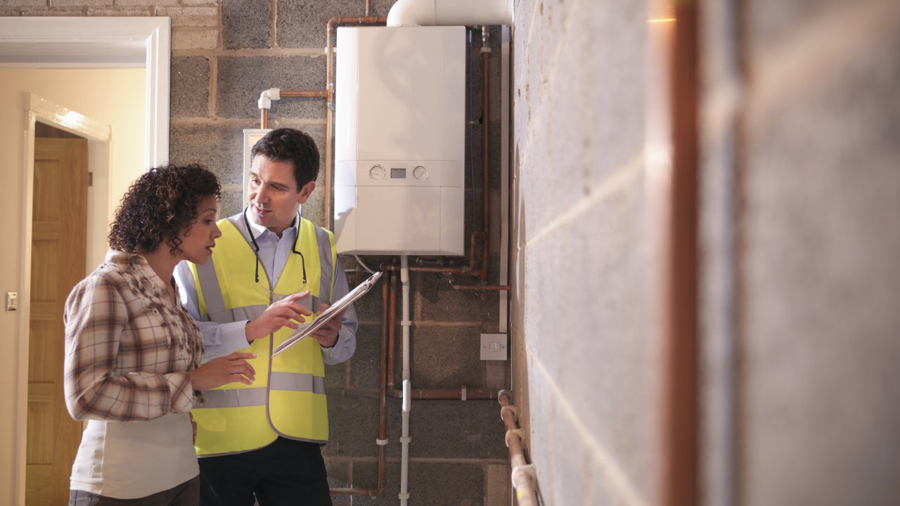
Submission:
[[[398,0],[388,26],[512,26],[513,0]]]

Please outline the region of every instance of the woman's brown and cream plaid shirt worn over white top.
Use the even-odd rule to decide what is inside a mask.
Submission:
[[[109,251],[66,301],[65,392],[76,420],[190,411],[202,336],[140,255]]]

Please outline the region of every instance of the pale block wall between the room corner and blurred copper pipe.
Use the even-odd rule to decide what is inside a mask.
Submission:
[[[546,504],[658,503],[648,15],[630,0],[516,3],[513,384]]]

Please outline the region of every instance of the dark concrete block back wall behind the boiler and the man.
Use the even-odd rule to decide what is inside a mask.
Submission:
[[[393,0],[374,0],[372,15],[386,16]],[[259,128],[257,98],[263,90],[324,90],[326,87],[326,23],[335,16],[365,14],[364,0],[259,2],[257,0],[11,0],[0,5],[7,16],[170,16],[172,19],[170,159],[200,162],[223,185],[220,214],[242,208],[242,131]],[[500,31],[495,27],[491,55],[494,97],[500,93]],[[477,152],[468,153],[475,167],[474,189],[468,189],[466,230],[473,214],[481,220],[479,175],[482,127],[480,32],[470,54],[472,99],[467,104],[468,135]],[[273,103],[269,126],[308,131],[324,157],[326,104],[323,99],[292,98]],[[491,194],[500,195],[500,106],[487,118],[491,128]],[[467,142],[467,150],[469,143]],[[470,180],[467,163],[466,181]],[[320,171],[319,187],[324,171]],[[498,201],[499,202],[499,201]],[[499,206],[495,203],[495,209]],[[303,216],[322,223],[320,191],[303,205]],[[491,217],[499,222],[499,215]],[[482,225],[478,225],[481,227]],[[499,230],[491,258],[491,284],[496,284]],[[466,236],[468,237],[468,235]],[[366,258],[372,267],[392,258]],[[353,258],[345,258],[353,279],[365,275]],[[457,283],[472,278],[458,276]],[[353,283],[353,281],[351,282]],[[506,362],[480,360],[480,333],[497,331],[496,292],[457,291],[446,275],[412,273],[411,370],[413,388],[500,389],[508,386]],[[327,389],[331,435],[325,447],[329,478],[336,487],[377,485],[378,382],[382,321],[381,290],[357,305],[361,326],[355,357],[329,367]],[[399,309],[398,309],[399,312]],[[398,320],[400,318],[398,317]],[[397,330],[398,341],[401,335]],[[401,345],[398,342],[397,357]],[[396,384],[400,384],[397,366]],[[377,497],[338,496],[340,504],[394,504],[400,492],[401,402],[388,401],[387,485]],[[503,505],[509,503],[509,456],[504,445],[500,404],[496,400],[415,401],[410,416],[410,501],[419,504]]]

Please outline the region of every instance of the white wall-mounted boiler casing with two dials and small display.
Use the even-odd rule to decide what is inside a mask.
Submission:
[[[338,28],[338,253],[464,254],[465,28]]]

